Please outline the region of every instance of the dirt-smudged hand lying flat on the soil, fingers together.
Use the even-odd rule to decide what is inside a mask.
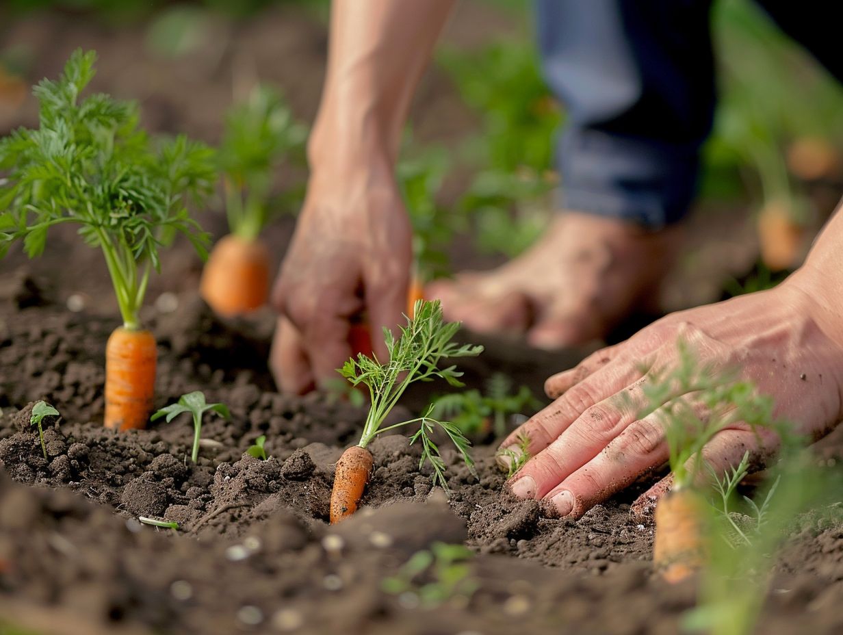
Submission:
[[[664,465],[668,446],[658,411],[637,415],[647,405],[642,383],[652,371],[676,366],[679,338],[701,364],[738,369],[773,396],[775,416],[793,422],[798,433],[817,439],[829,432],[843,417],[843,323],[815,292],[797,274],[770,291],[668,315],[550,377],[545,391],[556,401],[502,444],[514,450],[519,435],[529,438],[532,458],[510,482],[513,493],[545,501],[550,514],[579,518]],[[763,461],[777,443],[769,431],[738,422],[717,433],[703,454],[722,471],[747,450]],[[670,483],[668,475],[642,494],[633,512],[652,509]]]

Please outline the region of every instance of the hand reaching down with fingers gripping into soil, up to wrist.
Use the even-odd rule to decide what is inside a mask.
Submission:
[[[337,176],[314,171],[292,243],[272,291],[279,312],[270,356],[284,392],[303,394],[337,379],[352,355],[349,334],[365,320],[373,351],[387,352],[383,326],[405,311],[411,226],[391,170]]]

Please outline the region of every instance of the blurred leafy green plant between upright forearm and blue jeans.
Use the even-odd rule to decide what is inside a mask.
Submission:
[[[445,50],[438,62],[481,116],[481,133],[463,152],[477,171],[458,207],[470,215],[481,251],[517,256],[540,236],[551,211],[560,105],[541,78],[532,39]]]

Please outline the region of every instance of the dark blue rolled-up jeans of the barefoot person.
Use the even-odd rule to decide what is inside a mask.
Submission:
[[[695,195],[716,101],[710,0],[536,0],[566,209],[658,229]],[[820,0],[757,0],[843,80],[843,26]]]

